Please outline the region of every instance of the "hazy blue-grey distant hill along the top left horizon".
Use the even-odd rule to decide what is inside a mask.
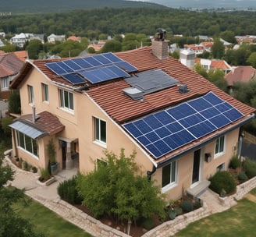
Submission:
[[[74,9],[96,8],[165,8],[152,2],[133,2],[123,0],[1,0],[0,12],[36,13],[36,12],[66,12]]]

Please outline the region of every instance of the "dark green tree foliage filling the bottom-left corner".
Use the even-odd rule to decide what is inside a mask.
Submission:
[[[12,210],[12,203],[23,198],[23,190],[6,186],[13,180],[14,172],[3,165],[3,150],[0,147],[0,236],[2,237],[43,237],[37,233],[34,225]]]

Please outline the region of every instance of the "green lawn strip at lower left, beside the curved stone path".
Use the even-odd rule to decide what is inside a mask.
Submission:
[[[89,237],[88,233],[84,232],[84,230],[76,227],[65,221],[63,218],[60,218],[57,214],[55,214],[52,210],[41,205],[41,203],[37,203],[34,200],[30,200],[26,197],[26,202],[29,205],[24,206],[24,201],[20,200],[20,202],[13,205],[16,213],[19,213],[21,217],[29,219],[37,228],[37,230],[44,234],[45,237]]]

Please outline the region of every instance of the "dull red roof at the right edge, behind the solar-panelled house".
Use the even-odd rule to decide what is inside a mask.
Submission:
[[[229,86],[233,86],[233,83],[238,81],[248,82],[256,78],[256,69],[251,65],[240,65],[226,74],[225,78]]]

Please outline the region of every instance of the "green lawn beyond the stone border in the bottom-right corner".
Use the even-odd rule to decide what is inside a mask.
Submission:
[[[191,223],[175,237],[255,236],[256,189],[251,194],[251,200],[244,198],[229,210]]]

